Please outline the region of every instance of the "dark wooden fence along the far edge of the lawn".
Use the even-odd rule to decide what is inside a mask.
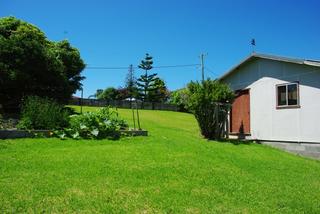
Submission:
[[[134,101],[135,102],[135,101]],[[69,101],[69,105],[82,105],[82,106],[112,106],[115,108],[131,108],[132,102],[128,100],[97,100],[97,99],[81,99],[72,98]],[[166,103],[150,103],[137,101],[138,109],[148,109],[148,110],[166,110],[166,111],[178,111],[179,107],[173,104]]]

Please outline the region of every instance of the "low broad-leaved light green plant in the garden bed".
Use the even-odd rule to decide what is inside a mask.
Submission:
[[[127,129],[126,121],[119,118],[118,112],[109,107],[101,108],[96,112],[85,112],[80,115],[72,115],[70,127],[57,131],[60,138],[117,138],[119,130]]]

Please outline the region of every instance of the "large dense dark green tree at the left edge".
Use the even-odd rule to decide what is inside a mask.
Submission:
[[[19,107],[24,96],[66,102],[81,88],[85,64],[66,40],[53,42],[37,27],[14,17],[0,19],[0,103]]]

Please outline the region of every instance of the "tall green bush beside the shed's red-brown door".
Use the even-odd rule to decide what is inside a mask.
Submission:
[[[195,115],[201,134],[209,139],[219,139],[234,99],[233,91],[226,84],[210,79],[202,83],[191,82],[187,88],[188,109]]]

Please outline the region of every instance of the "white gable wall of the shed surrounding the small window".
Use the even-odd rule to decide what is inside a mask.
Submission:
[[[253,59],[227,76],[232,89],[250,89],[251,137],[320,143],[320,68]],[[299,81],[300,108],[277,109],[276,85]]]

